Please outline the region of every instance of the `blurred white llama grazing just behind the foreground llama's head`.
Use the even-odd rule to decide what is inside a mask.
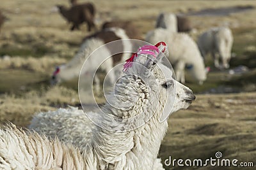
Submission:
[[[209,67],[205,68],[204,59],[198,46],[188,34],[159,28],[148,32],[145,40],[153,44],[165,41],[168,45],[171,45],[168,46],[170,52],[172,52],[168,59],[175,66],[176,78],[181,83],[185,83],[185,68],[189,69],[189,73],[199,84],[206,80]]]

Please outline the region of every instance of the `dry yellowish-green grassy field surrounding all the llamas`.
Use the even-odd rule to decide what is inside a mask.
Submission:
[[[82,1],[82,0],[81,0]],[[162,160],[207,159],[215,152],[224,158],[254,161],[256,166],[256,1],[92,1],[97,8],[97,27],[105,20],[132,20],[145,35],[154,29],[157,15],[168,11],[191,13],[205,8],[252,6],[252,10],[229,15],[188,15],[196,32],[228,25],[234,35],[231,68],[244,65],[250,71],[232,76],[212,66],[204,85],[188,77],[188,85],[197,95],[188,110],[170,116],[170,128],[159,153]],[[51,87],[54,67],[71,59],[81,44],[86,25],[80,31],[69,31],[70,25],[55,11],[58,0],[1,0],[0,10],[9,18],[0,32],[0,125],[7,121],[26,127],[40,111],[79,106],[77,80]],[[125,11],[125,12],[124,12]],[[208,94],[240,92],[239,94]],[[101,100],[102,101],[102,100]],[[187,167],[182,169],[212,169]],[[232,169],[232,167],[214,167]],[[166,167],[181,169],[181,167]],[[241,169],[252,169],[241,167]]]

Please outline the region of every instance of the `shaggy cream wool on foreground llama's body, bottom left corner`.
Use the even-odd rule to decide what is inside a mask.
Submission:
[[[6,154],[8,153],[8,154]],[[86,159],[72,145],[25,132],[15,125],[0,129],[0,169],[84,169]]]

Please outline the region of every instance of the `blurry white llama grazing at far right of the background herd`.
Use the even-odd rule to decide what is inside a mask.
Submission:
[[[232,44],[232,31],[228,27],[211,28],[198,38],[198,47],[202,56],[205,58],[208,53],[211,53],[214,66],[219,69],[229,68]]]

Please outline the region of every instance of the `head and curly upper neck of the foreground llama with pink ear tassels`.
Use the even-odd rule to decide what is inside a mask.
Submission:
[[[114,94],[107,96],[110,117],[129,122],[125,130],[139,127],[152,117],[163,122],[170,113],[188,108],[195,100],[193,92],[161,64],[164,55],[168,50],[163,42],[141,47],[124,65],[124,76],[116,82]]]

